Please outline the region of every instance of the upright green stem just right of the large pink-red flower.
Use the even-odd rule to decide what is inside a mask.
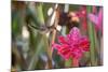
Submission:
[[[92,12],[92,6],[87,6],[87,13]],[[87,20],[87,28],[89,28],[89,37],[91,41],[90,45],[90,57],[91,57],[91,66],[96,66],[96,56],[95,56],[95,29],[94,25]]]

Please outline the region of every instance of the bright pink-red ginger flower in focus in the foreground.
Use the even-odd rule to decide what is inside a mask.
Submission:
[[[66,60],[69,58],[80,59],[84,52],[90,51],[90,41],[86,37],[81,35],[80,30],[73,27],[69,34],[66,37],[58,37],[59,44],[53,44],[53,47],[57,49]]]

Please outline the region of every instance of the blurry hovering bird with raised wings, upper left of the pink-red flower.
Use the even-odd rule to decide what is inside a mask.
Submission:
[[[33,28],[33,29],[38,30],[41,33],[48,33],[48,32],[52,32],[53,30],[57,30],[57,26],[54,25],[56,21],[55,18],[56,18],[56,9],[57,8],[58,8],[58,4],[53,5],[53,12],[49,16],[46,23],[44,23],[44,24],[39,24],[35,17],[35,15],[29,10],[29,14],[27,14],[27,17],[26,17],[27,26],[29,28]],[[38,25],[36,25],[36,24],[38,24]]]

